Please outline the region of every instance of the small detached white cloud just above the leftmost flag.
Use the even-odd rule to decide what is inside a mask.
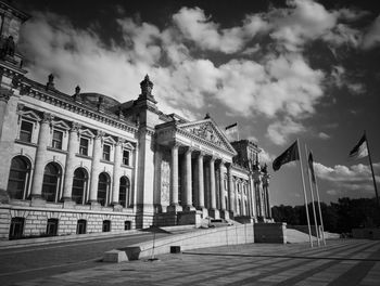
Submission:
[[[287,117],[268,126],[266,136],[277,145],[284,145],[291,135],[305,131],[305,127]]]

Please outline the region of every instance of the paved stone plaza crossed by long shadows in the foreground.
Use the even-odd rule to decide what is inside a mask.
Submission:
[[[40,285],[380,285],[380,242],[250,244],[162,255],[16,283]],[[49,270],[47,270],[49,271]]]

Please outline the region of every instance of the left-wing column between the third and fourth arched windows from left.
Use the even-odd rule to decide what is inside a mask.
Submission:
[[[90,199],[91,205],[98,205],[98,181],[99,181],[99,168],[100,158],[102,156],[102,138],[103,131],[98,130],[97,135],[93,139],[92,151],[92,165],[91,165],[91,180],[90,180]]]

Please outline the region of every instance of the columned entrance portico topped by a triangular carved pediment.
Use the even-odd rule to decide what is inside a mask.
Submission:
[[[157,126],[156,134],[160,150],[169,154],[170,185],[166,211],[197,209],[203,218],[228,219],[229,212],[233,213],[233,203],[225,177],[231,177],[226,171],[227,165],[231,166],[237,153],[213,119],[206,117],[195,122],[173,120]],[[165,172],[156,176],[165,181],[162,178]],[[157,185],[160,192],[164,191],[161,186]]]

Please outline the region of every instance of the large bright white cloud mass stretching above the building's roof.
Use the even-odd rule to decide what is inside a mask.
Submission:
[[[30,60],[26,63],[28,77],[45,82],[53,73],[55,86],[64,92],[73,93],[79,84],[83,92],[104,93],[125,102],[138,96],[139,82],[149,74],[164,112],[195,118],[217,101],[231,116],[286,118],[289,127],[282,131],[281,123],[273,121],[267,134],[276,144],[284,144],[290,135],[304,131],[295,118],[313,115],[324,96],[326,74],[314,69],[300,49],[309,40],[335,32],[338,20],[354,20],[358,17],[355,13],[327,11],[311,0],[294,0],[283,9],[246,15],[240,26],[221,28],[203,10],[182,8],[162,30],[149,23],[116,20],[124,41],[111,47],[92,30],[39,13],[23,28],[21,49]],[[293,46],[289,49],[293,52],[262,49],[265,43],[252,39],[263,31],[270,31],[275,41]],[[216,65],[197,56],[205,50],[237,55]],[[259,62],[246,58],[256,52],[263,53]],[[333,73],[337,84],[363,91],[359,83],[345,80],[343,67]]]

